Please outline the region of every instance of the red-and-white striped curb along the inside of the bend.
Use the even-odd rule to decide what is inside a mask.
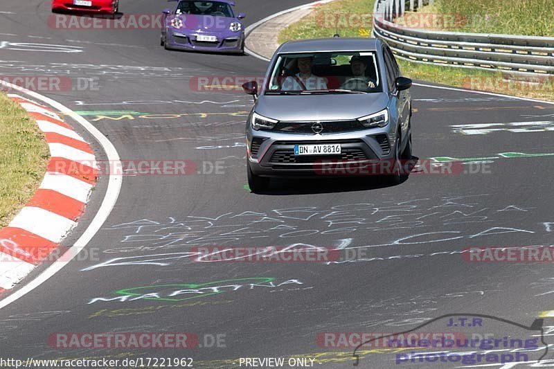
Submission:
[[[0,230],[0,295],[43,262],[77,224],[98,175],[90,145],[60,116],[28,98],[8,97],[35,119],[51,157],[33,198]]]

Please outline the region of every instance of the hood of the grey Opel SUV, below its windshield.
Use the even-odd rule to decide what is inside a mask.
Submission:
[[[376,113],[388,104],[386,93],[260,96],[256,113],[282,121],[351,120]]]

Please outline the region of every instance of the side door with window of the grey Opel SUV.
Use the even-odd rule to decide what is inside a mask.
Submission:
[[[383,48],[383,57],[386,65],[389,90],[391,91],[391,106],[395,107],[395,116],[400,123],[402,138],[406,137],[410,115],[410,93],[409,90],[397,91],[395,87],[396,78],[400,77],[400,69],[395,57],[388,46]]]

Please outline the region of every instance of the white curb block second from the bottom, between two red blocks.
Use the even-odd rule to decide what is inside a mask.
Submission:
[[[37,222],[37,219],[39,221]],[[56,244],[62,242],[66,233],[71,231],[77,224],[73,220],[62,215],[57,215],[51,211],[43,208],[36,208],[35,206],[25,206],[21,209],[19,214],[13,218],[10,222],[10,227],[16,227],[24,229],[30,233],[35,233],[46,240],[52,241]]]

